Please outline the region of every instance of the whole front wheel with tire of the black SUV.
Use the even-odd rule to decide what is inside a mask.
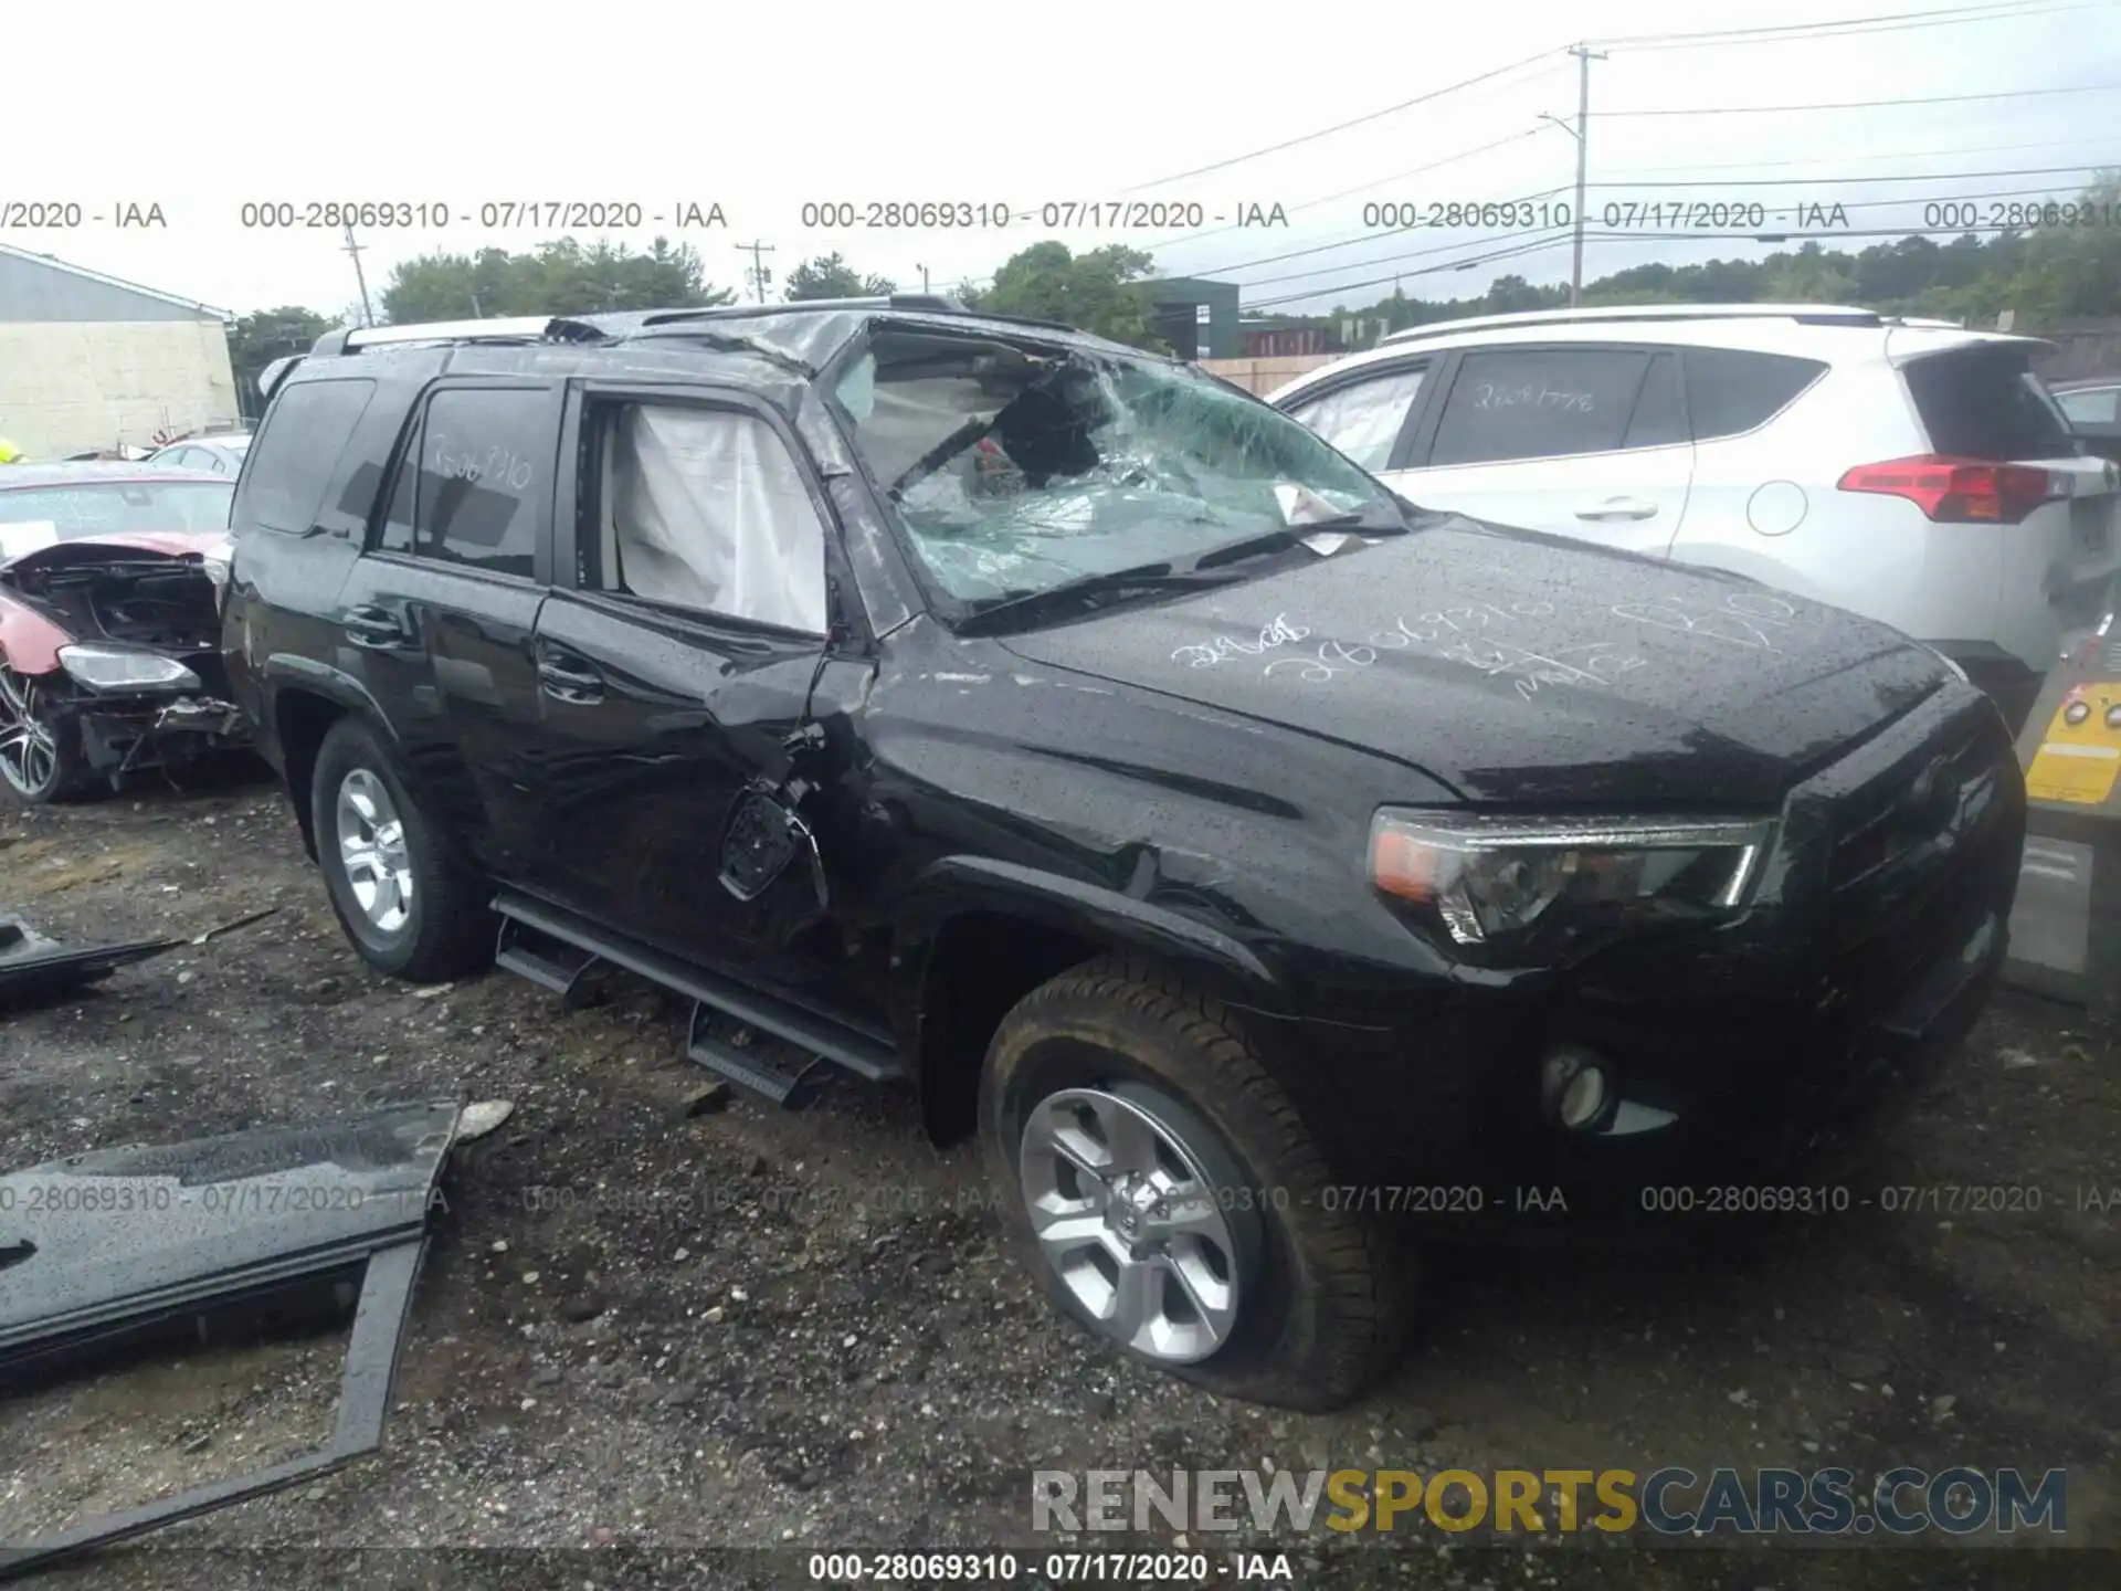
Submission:
[[[1024,995],[980,1137],[1027,1269],[1135,1358],[1321,1411],[1398,1356],[1413,1256],[1334,1196],[1241,1014],[1171,969],[1103,957]]]

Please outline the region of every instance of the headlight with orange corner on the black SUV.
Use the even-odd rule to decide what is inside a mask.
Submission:
[[[1434,910],[1459,944],[1489,944],[1533,927],[1733,914],[1773,836],[1773,821],[1383,810],[1370,825],[1370,880]]]

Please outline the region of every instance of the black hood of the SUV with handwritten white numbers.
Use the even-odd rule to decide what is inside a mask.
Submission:
[[[1854,613],[1466,518],[1003,645],[1504,806],[1767,808],[1949,679]]]

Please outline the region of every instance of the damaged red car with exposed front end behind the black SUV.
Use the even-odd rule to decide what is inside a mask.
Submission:
[[[0,469],[0,781],[19,800],[246,742],[221,666],[233,492],[129,462]]]

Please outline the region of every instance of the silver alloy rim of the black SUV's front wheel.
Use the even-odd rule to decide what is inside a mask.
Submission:
[[[1063,1088],[1031,1107],[1024,1209],[1101,1332],[1147,1360],[1198,1364],[1237,1326],[1237,1241],[1175,1112],[1128,1092]]]

